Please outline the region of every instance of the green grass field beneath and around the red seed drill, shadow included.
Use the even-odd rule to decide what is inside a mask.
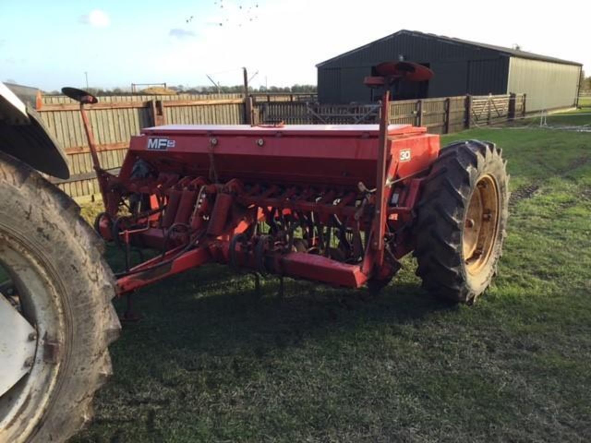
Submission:
[[[590,441],[591,135],[444,142],[465,138],[504,148],[513,191],[499,275],[473,307],[430,298],[411,259],[371,302],[295,281],[280,299],[274,279],[257,298],[215,266],[168,279],[135,297],[144,318],[74,441]]]

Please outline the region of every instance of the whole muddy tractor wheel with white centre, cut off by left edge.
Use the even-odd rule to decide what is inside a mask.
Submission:
[[[63,442],[90,420],[121,328],[101,245],[76,203],[0,153],[1,443]]]

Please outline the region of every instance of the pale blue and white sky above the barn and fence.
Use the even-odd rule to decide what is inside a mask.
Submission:
[[[589,1],[0,0],[0,80],[316,84],[328,58],[401,29],[574,60],[591,74]],[[256,73],[256,75],[255,75]],[[254,77],[253,77],[254,76]]]

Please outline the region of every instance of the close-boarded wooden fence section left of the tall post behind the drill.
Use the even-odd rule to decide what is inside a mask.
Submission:
[[[103,168],[119,168],[129,148],[129,139],[142,128],[164,123],[242,124],[246,122],[245,100],[221,99],[143,100],[143,96],[102,97],[96,105],[87,105]],[[182,96],[181,96],[182,97]],[[50,97],[57,103],[43,104],[38,113],[48,132],[66,151],[70,163],[68,180],[52,179],[72,197],[98,194],[98,182],[92,168],[79,105],[67,97]],[[119,98],[119,97],[116,97]],[[132,100],[129,100],[131,99]]]

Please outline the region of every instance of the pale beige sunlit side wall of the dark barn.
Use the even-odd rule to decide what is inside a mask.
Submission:
[[[507,92],[527,94],[528,112],[574,106],[580,66],[511,57]]]

